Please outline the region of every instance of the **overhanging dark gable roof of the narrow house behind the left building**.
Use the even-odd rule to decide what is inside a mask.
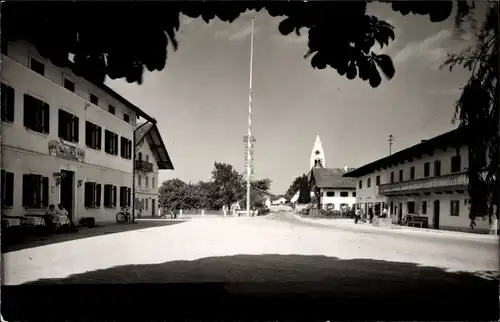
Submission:
[[[174,166],[156,123],[142,123],[135,131],[135,145],[146,140],[160,170],[173,170]]]

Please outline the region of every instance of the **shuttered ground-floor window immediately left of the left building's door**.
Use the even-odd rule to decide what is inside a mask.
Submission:
[[[23,207],[40,209],[49,206],[49,178],[23,174]]]

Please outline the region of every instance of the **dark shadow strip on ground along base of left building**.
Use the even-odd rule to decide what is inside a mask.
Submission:
[[[134,224],[110,224],[106,226],[98,226],[95,228],[79,228],[76,233],[62,233],[62,234],[53,234],[48,236],[27,236],[25,237],[23,242],[5,245],[2,240],[2,254],[13,252],[17,250],[45,246],[55,243],[61,243],[76,239],[96,237],[108,234],[116,234],[122,233],[126,231],[146,229],[152,227],[161,227],[168,225],[175,225],[179,223],[183,223],[185,220],[144,220],[138,221]]]

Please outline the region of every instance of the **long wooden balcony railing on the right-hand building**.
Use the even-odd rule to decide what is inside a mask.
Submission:
[[[379,195],[395,193],[411,193],[419,190],[432,190],[442,188],[461,187],[467,189],[469,178],[467,173],[453,173],[439,177],[422,178],[417,180],[381,184],[378,188]]]

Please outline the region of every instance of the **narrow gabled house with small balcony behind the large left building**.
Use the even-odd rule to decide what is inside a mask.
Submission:
[[[142,216],[158,214],[158,171],[174,167],[155,123],[142,123],[135,131],[135,204]]]

